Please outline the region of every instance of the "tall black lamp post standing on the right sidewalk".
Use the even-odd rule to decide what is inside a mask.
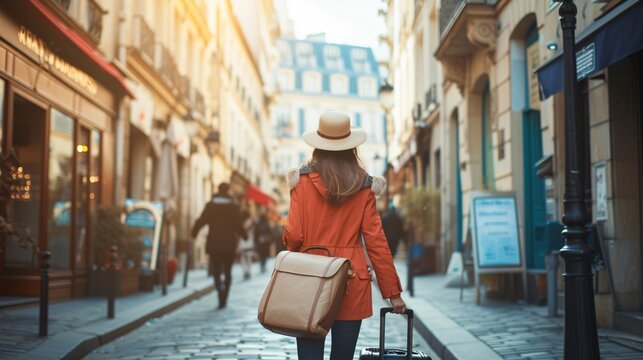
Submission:
[[[565,95],[565,197],[563,223],[565,246],[560,255],[565,260],[565,359],[599,359],[596,312],[592,284],[593,250],[587,244],[585,153],[578,116],[576,83],[576,5],[561,2],[558,14],[563,30]]]

